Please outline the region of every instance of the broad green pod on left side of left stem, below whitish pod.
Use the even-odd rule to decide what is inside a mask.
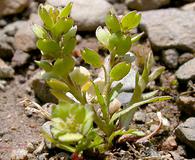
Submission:
[[[37,41],[37,47],[44,53],[45,56],[49,55],[51,57],[57,58],[60,47],[57,42],[52,40],[41,40]]]

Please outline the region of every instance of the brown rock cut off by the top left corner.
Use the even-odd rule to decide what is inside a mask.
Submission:
[[[29,0],[1,0],[0,17],[22,12],[28,5]]]

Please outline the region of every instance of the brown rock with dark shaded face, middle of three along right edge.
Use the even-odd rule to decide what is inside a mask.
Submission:
[[[195,98],[191,96],[180,96],[177,105],[181,111],[195,116]]]

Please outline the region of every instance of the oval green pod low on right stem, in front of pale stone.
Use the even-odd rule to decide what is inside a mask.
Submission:
[[[131,65],[126,62],[121,62],[115,65],[110,71],[110,77],[114,81],[123,79],[130,71]]]

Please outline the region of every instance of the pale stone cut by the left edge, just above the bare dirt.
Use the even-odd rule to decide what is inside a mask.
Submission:
[[[0,59],[0,78],[13,78],[14,70]]]

